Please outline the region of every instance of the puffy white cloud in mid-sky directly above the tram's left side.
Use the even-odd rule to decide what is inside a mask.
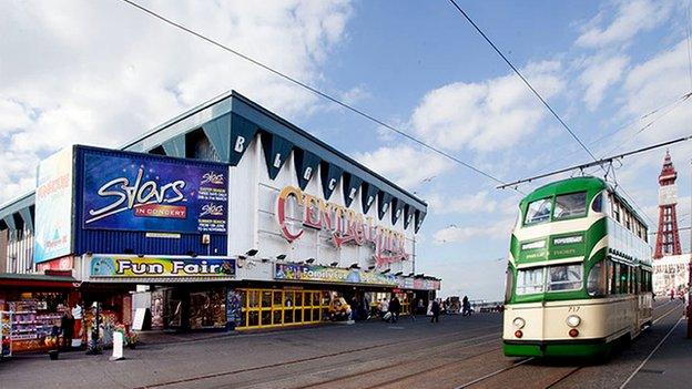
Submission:
[[[525,75],[545,99],[562,90],[560,63],[533,63]],[[411,124],[419,136],[450,150],[493,151],[538,129],[546,109],[513,73],[478,83],[457,82],[428,92]]]

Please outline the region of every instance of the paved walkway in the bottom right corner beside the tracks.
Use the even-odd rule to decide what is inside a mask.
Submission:
[[[683,318],[625,388],[691,388],[692,339],[686,332],[688,320]]]

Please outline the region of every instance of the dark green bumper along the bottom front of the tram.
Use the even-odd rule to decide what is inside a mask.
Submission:
[[[507,357],[594,357],[606,356],[611,345],[606,339],[505,340]]]

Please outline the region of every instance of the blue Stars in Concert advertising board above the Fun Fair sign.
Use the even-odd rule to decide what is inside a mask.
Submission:
[[[223,165],[85,150],[82,173],[84,229],[226,233]]]

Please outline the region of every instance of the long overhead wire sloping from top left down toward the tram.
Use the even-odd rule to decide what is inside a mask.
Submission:
[[[298,86],[301,86],[301,88],[303,88],[303,89],[305,89],[305,90],[307,90],[307,91],[309,91],[309,92],[312,92],[312,93],[314,93],[314,94],[316,94],[316,95],[318,95],[318,96],[320,96],[320,98],[323,98],[325,100],[328,100],[328,101],[330,101],[330,102],[333,102],[333,103],[335,103],[337,105],[340,105],[342,108],[344,108],[344,109],[346,109],[346,110],[348,110],[350,112],[354,112],[354,113],[356,113],[356,114],[358,114],[358,115],[360,115],[360,116],[363,116],[363,117],[365,117],[365,119],[367,119],[367,120],[369,120],[369,121],[372,121],[372,122],[374,122],[376,124],[379,124],[379,125],[386,127],[387,130],[394,131],[395,133],[406,137],[407,140],[414,142],[414,143],[416,143],[416,144],[418,144],[418,145],[420,145],[420,146],[423,146],[423,147],[425,147],[427,150],[430,150],[430,151],[432,151],[432,152],[435,152],[435,153],[437,153],[439,155],[442,155],[442,156],[445,156],[445,157],[447,157],[447,158],[449,158],[449,160],[460,164],[461,166],[467,167],[467,168],[469,168],[469,170],[471,170],[471,171],[474,171],[474,172],[485,176],[486,178],[489,178],[489,180],[491,180],[491,181],[493,181],[493,182],[496,182],[498,184],[505,184],[505,182],[502,180],[491,175],[490,173],[484,172],[482,170],[480,170],[480,168],[478,168],[478,167],[476,167],[476,166],[474,166],[474,165],[471,165],[471,164],[469,164],[467,162],[464,162],[464,161],[459,160],[458,157],[456,157],[456,156],[454,156],[454,155],[451,155],[451,154],[449,154],[449,153],[447,153],[447,152],[445,152],[445,151],[442,151],[440,149],[437,149],[437,147],[435,147],[435,146],[432,146],[430,144],[427,144],[427,143],[425,143],[421,140],[419,140],[419,139],[417,139],[417,137],[415,137],[415,136],[413,136],[413,135],[410,135],[410,134],[408,134],[408,133],[406,133],[406,132],[404,132],[404,131],[401,131],[401,130],[399,130],[399,129],[397,129],[397,127],[395,127],[395,126],[393,126],[390,124],[385,123],[384,121],[373,116],[372,114],[369,114],[369,113],[367,113],[365,111],[362,111],[362,110],[359,110],[359,109],[357,109],[355,106],[352,106],[352,105],[349,105],[349,104],[338,100],[337,98],[334,98],[330,94],[327,94],[326,92],[322,92],[322,91],[317,90],[314,86],[311,86],[311,85],[308,85],[308,84],[306,84],[306,83],[304,83],[304,82],[302,82],[302,81],[299,81],[297,79],[294,79],[291,75],[282,73],[281,71],[278,71],[278,70],[276,70],[276,69],[274,69],[274,68],[272,68],[269,65],[266,65],[266,64],[264,64],[264,63],[262,63],[262,62],[260,62],[260,61],[257,61],[257,60],[255,60],[255,59],[253,59],[253,58],[251,58],[248,55],[243,54],[242,52],[240,52],[240,51],[237,51],[235,49],[232,49],[232,48],[230,48],[230,47],[227,47],[227,45],[225,45],[225,44],[223,44],[223,43],[221,43],[218,41],[215,41],[215,40],[213,40],[213,39],[211,39],[211,38],[208,38],[206,35],[203,35],[202,33],[199,33],[199,32],[196,32],[194,30],[191,30],[191,29],[189,29],[189,28],[186,28],[186,27],[184,27],[184,25],[182,25],[182,24],[180,24],[180,23],[177,23],[177,22],[175,22],[175,21],[173,21],[171,19],[167,19],[166,17],[163,17],[160,13],[156,13],[155,11],[150,10],[149,8],[145,8],[143,6],[138,4],[136,2],[134,2],[132,0],[121,0],[121,1],[126,3],[126,4],[129,4],[129,6],[132,6],[132,7],[136,8],[136,9],[139,9],[140,11],[143,11],[143,12],[147,13],[149,16],[151,16],[153,18],[156,18],[156,19],[165,22],[166,24],[175,27],[176,29],[180,29],[180,30],[182,30],[184,32],[187,32],[187,33],[190,33],[190,34],[192,34],[192,35],[194,35],[194,37],[196,37],[196,38],[199,38],[199,39],[201,39],[201,40],[203,40],[203,41],[205,41],[207,43],[211,43],[211,44],[213,44],[213,45],[215,45],[215,47],[217,47],[220,49],[223,49],[223,50],[225,50],[225,51],[227,51],[227,52],[230,52],[230,53],[232,53],[232,54],[234,54],[234,55],[236,55],[236,57],[238,57],[238,58],[241,58],[241,59],[243,59],[243,60],[245,60],[245,61],[247,61],[247,62],[250,62],[250,63],[252,63],[252,64],[254,64],[256,66],[260,66],[260,68],[268,71],[269,73],[273,73],[273,74],[275,74],[275,75],[277,75],[277,76],[279,76],[279,78],[282,78],[282,79],[284,79],[284,80],[286,80],[286,81],[288,81],[291,83],[293,83],[293,84],[296,84],[296,85],[298,85]],[[523,192],[519,191],[518,188],[515,188],[515,191],[517,191],[519,193],[523,193]]]

